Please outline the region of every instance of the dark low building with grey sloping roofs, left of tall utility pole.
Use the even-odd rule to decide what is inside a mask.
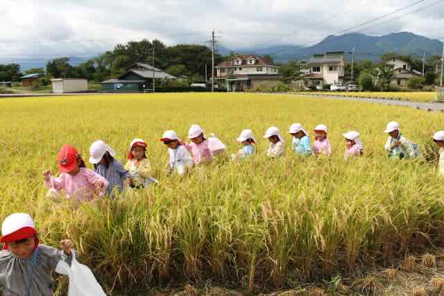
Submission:
[[[100,92],[143,92],[153,87],[153,73],[156,80],[178,79],[149,64],[137,62],[119,78],[101,82]]]

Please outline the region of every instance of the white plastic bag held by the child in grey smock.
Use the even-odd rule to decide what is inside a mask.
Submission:
[[[106,296],[92,271],[86,265],[78,263],[74,250],[71,250],[71,254],[71,267],[63,260],[56,267],[58,274],[69,277],[68,296]]]

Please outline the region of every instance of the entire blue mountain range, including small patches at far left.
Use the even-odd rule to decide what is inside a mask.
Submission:
[[[356,60],[379,59],[383,53],[394,52],[401,55],[412,55],[421,58],[425,53],[430,55],[441,55],[443,42],[430,39],[425,36],[416,35],[409,32],[392,33],[382,36],[366,35],[361,33],[349,33],[344,35],[330,35],[313,46],[298,46],[293,44],[280,44],[271,46],[255,46],[239,49],[230,49],[225,46],[218,46],[221,55],[230,53],[243,53],[255,55],[271,55],[275,62],[288,62],[289,60],[309,60],[314,53],[325,53],[326,51],[352,51],[355,47]],[[84,57],[69,57],[70,64],[76,66],[89,58],[99,56],[99,53],[91,53]],[[53,57],[57,58],[57,57]],[[22,71],[36,67],[46,67],[46,63],[53,58],[24,58],[1,59],[0,64],[15,62],[20,64]]]

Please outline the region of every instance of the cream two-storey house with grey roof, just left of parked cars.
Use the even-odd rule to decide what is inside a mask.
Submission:
[[[333,83],[343,84],[346,64],[347,58],[343,51],[311,55],[308,68],[301,71],[304,74],[302,79],[307,87],[314,85],[317,89]]]

